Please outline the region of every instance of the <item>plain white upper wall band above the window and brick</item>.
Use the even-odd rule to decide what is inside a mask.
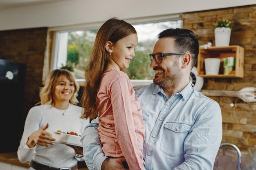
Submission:
[[[63,0],[0,10],[0,31],[141,18],[256,4],[256,0]]]

